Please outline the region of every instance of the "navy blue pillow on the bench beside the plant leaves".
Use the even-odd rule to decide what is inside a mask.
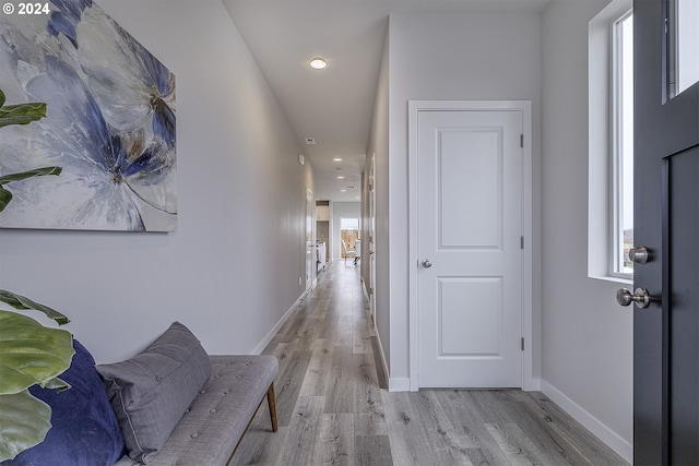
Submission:
[[[29,389],[51,407],[54,427],[44,442],[2,466],[111,466],[123,455],[123,437],[95,360],[76,339],[73,348],[71,366],[60,375],[70,390]]]

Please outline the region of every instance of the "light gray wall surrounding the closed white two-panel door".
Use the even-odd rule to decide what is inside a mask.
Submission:
[[[412,99],[532,100],[533,169],[540,167],[541,21],[522,14],[395,14],[390,22],[389,190],[390,383],[405,387],[408,371],[407,101]],[[538,179],[534,222],[538,232]],[[533,244],[540,256],[538,243]],[[378,246],[377,246],[378,250]],[[540,264],[535,259],[534,270]],[[538,276],[533,277],[538,325]],[[377,287],[379,285],[377,284]],[[387,292],[380,289],[377,291]],[[535,330],[535,342],[540,339]],[[383,346],[387,342],[382,342]],[[535,353],[537,349],[535,349]],[[534,358],[538,374],[538,356]]]

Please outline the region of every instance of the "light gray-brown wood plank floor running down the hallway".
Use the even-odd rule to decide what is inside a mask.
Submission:
[[[627,464],[538,392],[389,393],[372,332],[358,266],[325,267],[264,351],[280,361],[280,429],[263,403],[230,464]]]

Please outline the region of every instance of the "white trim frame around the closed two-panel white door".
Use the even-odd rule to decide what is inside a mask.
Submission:
[[[540,390],[540,379],[533,374],[533,256],[532,256],[532,103],[531,100],[410,100],[408,101],[408,313],[410,313],[410,385],[419,389],[419,327],[417,307],[417,116],[426,110],[520,110],[523,117],[522,160],[522,231],[524,255],[522,261],[522,390]]]

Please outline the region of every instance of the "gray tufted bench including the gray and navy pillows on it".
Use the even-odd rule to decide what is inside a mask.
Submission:
[[[2,466],[226,465],[265,395],[276,431],[273,356],[210,356],[179,322],[120,362],[73,348],[70,390],[32,387],[51,408],[45,440]]]

